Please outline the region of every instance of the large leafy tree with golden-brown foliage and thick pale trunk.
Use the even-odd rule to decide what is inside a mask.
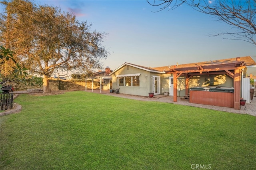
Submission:
[[[91,31],[91,24],[76,20],[57,7],[28,0],[2,1],[0,42],[16,51],[31,73],[43,76],[44,93],[59,72],[86,72],[100,68],[108,51],[101,45],[106,34]]]

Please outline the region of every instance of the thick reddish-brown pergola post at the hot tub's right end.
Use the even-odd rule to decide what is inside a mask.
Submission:
[[[234,109],[240,110],[240,69],[234,70]]]

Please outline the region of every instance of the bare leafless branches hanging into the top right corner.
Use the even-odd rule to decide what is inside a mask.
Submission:
[[[232,26],[233,32],[214,36],[231,35],[232,40],[243,40],[256,45],[256,0],[148,0],[160,9],[156,12],[178,8],[187,4],[198,12],[214,16],[218,21]]]

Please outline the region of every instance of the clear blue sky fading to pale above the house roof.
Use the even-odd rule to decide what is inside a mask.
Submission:
[[[146,0],[35,2],[73,12],[78,20],[91,23],[93,30],[107,33],[102,45],[110,55],[102,62],[112,70],[125,62],[160,67],[242,56],[252,56],[256,61],[256,46],[224,40],[223,36],[209,37],[232,28],[185,5],[154,13],[159,8]]]

